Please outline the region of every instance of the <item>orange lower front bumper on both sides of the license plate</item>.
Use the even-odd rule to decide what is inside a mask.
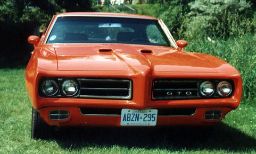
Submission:
[[[63,120],[51,119],[51,111],[68,111],[68,118]],[[121,109],[120,109],[121,110]],[[205,119],[208,111],[221,111],[218,119]],[[195,113],[191,115],[158,115],[156,126],[168,125],[212,125],[220,122],[232,108],[226,107],[207,107],[196,108]],[[49,125],[55,126],[121,126],[121,115],[106,114],[82,114],[79,107],[44,107],[39,109],[43,119]]]

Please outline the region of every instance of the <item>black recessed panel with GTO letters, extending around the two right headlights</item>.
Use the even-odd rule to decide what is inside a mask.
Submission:
[[[203,95],[200,85],[209,81],[214,89],[220,81],[229,82],[234,88],[234,81],[228,79],[154,79],[152,84],[152,101],[172,99],[209,99],[228,98],[234,94],[234,90],[226,97],[217,94],[216,90],[209,96]]]

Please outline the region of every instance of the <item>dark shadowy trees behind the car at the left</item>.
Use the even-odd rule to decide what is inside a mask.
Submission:
[[[0,0],[0,66],[26,64],[32,51],[28,35],[39,35],[38,27],[44,30],[54,14],[95,11],[95,3],[94,0]]]

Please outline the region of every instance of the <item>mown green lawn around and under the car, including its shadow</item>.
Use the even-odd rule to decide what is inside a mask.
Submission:
[[[213,129],[66,128],[30,139],[24,69],[0,69],[0,153],[256,153],[256,105],[242,102]]]

